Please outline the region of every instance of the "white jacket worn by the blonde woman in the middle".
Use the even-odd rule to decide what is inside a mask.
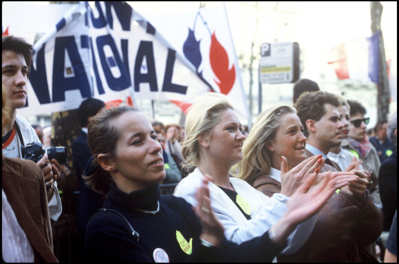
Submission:
[[[186,199],[193,206],[197,206],[195,192],[200,187],[202,177],[204,176],[200,169],[195,168],[193,173],[182,179],[176,186],[174,195]],[[211,208],[217,219],[224,226],[224,235],[229,241],[242,243],[260,236],[269,230],[274,223],[277,223],[285,213],[285,210],[287,210],[285,204],[289,198],[285,195],[276,193],[270,198],[250,186],[243,179],[234,177],[230,177],[230,183],[236,192],[248,202],[251,208],[250,220],[244,217],[244,214],[221,188],[211,181],[208,184],[211,195]],[[288,236],[287,247],[281,254],[292,254],[299,250],[310,236],[315,221],[316,214],[298,225],[294,232]]]

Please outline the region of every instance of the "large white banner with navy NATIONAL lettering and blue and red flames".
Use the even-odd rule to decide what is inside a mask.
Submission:
[[[203,12],[205,19],[219,19],[208,21],[210,34],[206,39],[196,35],[198,27],[191,31],[158,29],[156,23],[122,1],[73,5],[34,44],[28,103],[19,113],[37,115],[77,109],[88,97],[105,102],[131,98],[133,104],[137,99],[169,100],[185,110],[197,96],[215,91],[229,96],[241,118],[249,120],[223,8],[201,8],[195,14],[175,16],[198,19]],[[208,14],[211,11],[213,14]],[[215,16],[215,12],[221,13]],[[164,26],[166,22],[173,23],[164,20]],[[212,24],[220,25],[211,28]]]

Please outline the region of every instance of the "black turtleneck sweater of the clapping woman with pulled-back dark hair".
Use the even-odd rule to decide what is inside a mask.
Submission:
[[[155,211],[139,212],[135,208]],[[219,248],[201,244],[201,223],[190,203],[173,195],[160,195],[157,185],[129,194],[111,183],[104,208],[120,212],[140,234],[111,212],[97,212],[87,224],[85,262],[154,262],[153,252],[162,249],[169,262],[271,262],[282,248],[268,233],[237,245],[224,241]]]

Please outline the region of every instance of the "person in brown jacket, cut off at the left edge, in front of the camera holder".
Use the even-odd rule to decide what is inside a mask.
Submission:
[[[1,89],[1,128],[8,122],[4,85]],[[47,192],[41,168],[32,160],[1,160],[2,260],[9,263],[58,262],[53,252]]]

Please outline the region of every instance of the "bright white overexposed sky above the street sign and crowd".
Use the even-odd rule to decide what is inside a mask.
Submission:
[[[174,14],[197,10],[200,1],[128,1],[142,14]],[[220,1],[207,1],[206,7]],[[382,1],[381,28],[387,57],[397,52],[397,2]],[[257,8],[255,8],[257,5]],[[369,1],[226,1],[230,30],[237,56],[248,64],[252,41],[254,55],[260,57],[261,43],[299,43],[308,69],[320,67],[335,45],[371,35]],[[311,51],[311,52],[309,52]],[[313,65],[313,66],[312,66]]]

